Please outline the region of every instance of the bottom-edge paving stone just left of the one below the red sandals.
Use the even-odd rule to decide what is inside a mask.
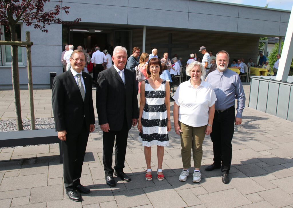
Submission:
[[[145,204],[150,204],[147,195],[140,189],[127,190],[113,193],[118,207],[137,207]],[[127,202],[125,201],[125,197]]]

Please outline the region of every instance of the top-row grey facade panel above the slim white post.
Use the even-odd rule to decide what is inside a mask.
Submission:
[[[188,1],[178,0],[148,0],[148,1],[137,1],[128,0],[129,7],[136,8],[149,8],[149,9],[160,9],[169,11],[183,11],[188,12]],[[157,11],[160,12],[160,11]],[[161,21],[163,21],[161,19]]]

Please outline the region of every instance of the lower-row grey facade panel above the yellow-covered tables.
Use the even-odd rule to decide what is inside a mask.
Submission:
[[[253,19],[238,19],[238,33],[279,35],[280,22]]]

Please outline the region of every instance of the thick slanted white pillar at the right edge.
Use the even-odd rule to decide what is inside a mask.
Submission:
[[[280,58],[280,64],[276,76],[278,81],[287,81],[290,65],[293,57],[293,6],[288,22],[288,28],[285,36],[284,46]]]

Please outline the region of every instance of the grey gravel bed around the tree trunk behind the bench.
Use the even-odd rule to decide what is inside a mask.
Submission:
[[[31,130],[30,119],[23,119],[23,129]],[[54,129],[55,122],[54,118],[36,118],[35,119],[36,129]],[[0,132],[15,132],[16,131],[16,120],[0,120]]]

